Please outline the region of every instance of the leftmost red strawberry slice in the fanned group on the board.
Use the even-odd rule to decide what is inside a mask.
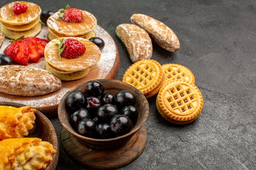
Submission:
[[[29,45],[22,41],[16,41],[7,46],[4,54],[9,55],[17,64],[27,66],[29,63]]]

